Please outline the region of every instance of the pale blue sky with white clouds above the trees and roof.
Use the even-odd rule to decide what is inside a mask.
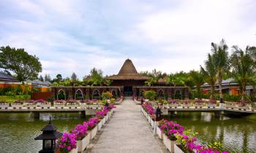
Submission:
[[[91,68],[117,74],[199,69],[211,42],[256,46],[255,0],[0,0],[0,46],[24,48],[42,75],[81,79]]]

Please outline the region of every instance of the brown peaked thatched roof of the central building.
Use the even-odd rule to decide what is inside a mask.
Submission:
[[[127,59],[124,61],[124,64],[123,64],[123,66],[121,66],[121,69],[118,72],[118,74],[113,75],[113,76],[108,76],[107,79],[147,80],[147,79],[149,79],[149,77],[138,74],[138,71],[136,70],[135,66],[133,65],[132,60]]]

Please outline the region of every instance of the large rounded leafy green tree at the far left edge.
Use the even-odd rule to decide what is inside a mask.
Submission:
[[[28,79],[37,79],[42,65],[35,55],[29,55],[24,49],[15,49],[9,46],[0,47],[0,68],[15,73],[20,82]]]

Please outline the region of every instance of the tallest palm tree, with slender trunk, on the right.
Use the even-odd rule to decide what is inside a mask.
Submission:
[[[213,57],[214,66],[217,71],[217,80],[219,83],[219,97],[222,95],[222,77],[229,69],[228,47],[224,39],[219,44],[211,42],[211,52]]]

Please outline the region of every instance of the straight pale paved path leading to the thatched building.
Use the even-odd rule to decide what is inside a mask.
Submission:
[[[102,128],[97,142],[88,152],[165,152],[140,114],[140,106],[124,100]]]

